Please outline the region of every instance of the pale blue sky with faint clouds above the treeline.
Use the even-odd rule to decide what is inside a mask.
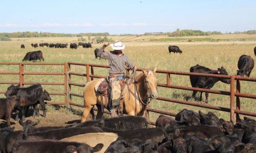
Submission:
[[[1,1],[0,32],[144,34],[256,30],[255,0]]]

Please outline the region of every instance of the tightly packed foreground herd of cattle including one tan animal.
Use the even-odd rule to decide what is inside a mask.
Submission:
[[[159,115],[156,128],[149,128],[143,116],[70,121],[67,126],[35,128],[39,122],[19,121],[23,130],[0,129],[0,152],[256,152],[254,119],[238,117],[234,125],[212,112],[184,109],[175,119]]]

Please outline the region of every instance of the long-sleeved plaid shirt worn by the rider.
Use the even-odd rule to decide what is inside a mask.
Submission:
[[[109,73],[110,74],[122,74],[125,71],[125,65],[128,68],[133,68],[134,64],[131,63],[128,56],[125,54],[121,54],[120,56],[115,54],[114,51],[110,52],[104,52],[104,49],[106,48],[105,45],[103,45],[99,51],[97,52],[97,56],[102,59],[108,59],[108,63],[110,66]]]

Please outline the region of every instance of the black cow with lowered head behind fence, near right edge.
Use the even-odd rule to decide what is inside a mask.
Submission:
[[[251,56],[243,54],[239,57],[237,67],[239,69],[237,70],[237,75],[240,75],[241,77],[244,77],[244,75],[250,77],[251,70],[254,68],[254,60]]]

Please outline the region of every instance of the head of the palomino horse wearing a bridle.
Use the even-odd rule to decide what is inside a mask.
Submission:
[[[157,71],[157,67],[154,69],[154,71],[142,71],[145,75],[145,88],[147,89],[148,97],[151,99],[157,99],[157,75],[155,73]]]

